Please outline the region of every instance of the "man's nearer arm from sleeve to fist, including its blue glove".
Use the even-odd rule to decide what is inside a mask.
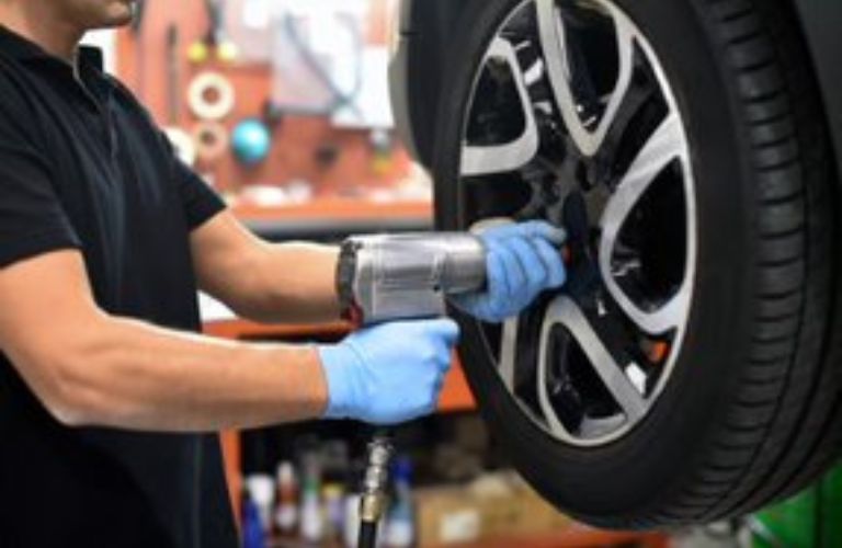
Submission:
[[[318,350],[214,340],[103,311],[78,251],[0,269],[0,351],[69,426],[403,422],[433,409],[457,334],[455,323],[437,320],[379,326]]]

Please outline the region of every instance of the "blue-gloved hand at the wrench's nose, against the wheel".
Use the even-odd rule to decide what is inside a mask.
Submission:
[[[452,301],[480,320],[499,323],[519,315],[546,289],[564,285],[565,263],[558,247],[567,235],[544,221],[503,225],[479,235],[488,250],[488,282],[482,293]]]

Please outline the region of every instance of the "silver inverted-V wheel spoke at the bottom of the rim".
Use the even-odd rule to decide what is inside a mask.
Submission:
[[[636,421],[642,416],[646,412],[646,400],[628,377],[626,377],[623,367],[617,364],[614,356],[605,347],[602,339],[594,331],[593,326],[576,301],[561,295],[547,309],[544,326],[542,327],[538,354],[538,402],[550,431],[557,435],[567,434],[569,436],[573,434],[567,432],[567,429],[561,424],[556,414],[546,383],[547,367],[549,367],[547,361],[550,354],[550,334],[553,328],[559,324],[567,328],[573,339],[577,340],[582,352],[587,355],[588,362],[623,410],[626,421]]]

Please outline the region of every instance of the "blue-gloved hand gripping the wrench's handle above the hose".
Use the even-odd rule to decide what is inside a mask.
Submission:
[[[459,329],[452,320],[384,323],[319,347],[327,419],[390,425],[435,411]]]

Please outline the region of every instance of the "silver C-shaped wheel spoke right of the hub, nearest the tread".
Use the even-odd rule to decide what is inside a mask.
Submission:
[[[605,286],[623,311],[650,334],[660,334],[678,327],[689,306],[689,283],[657,310],[644,310],[619,287],[613,271],[612,259],[621,230],[646,191],[656,178],[676,159],[684,161],[685,145],[681,121],[670,114],[644,145],[632,167],[619,182],[616,193],[603,213],[600,242],[600,270]]]

